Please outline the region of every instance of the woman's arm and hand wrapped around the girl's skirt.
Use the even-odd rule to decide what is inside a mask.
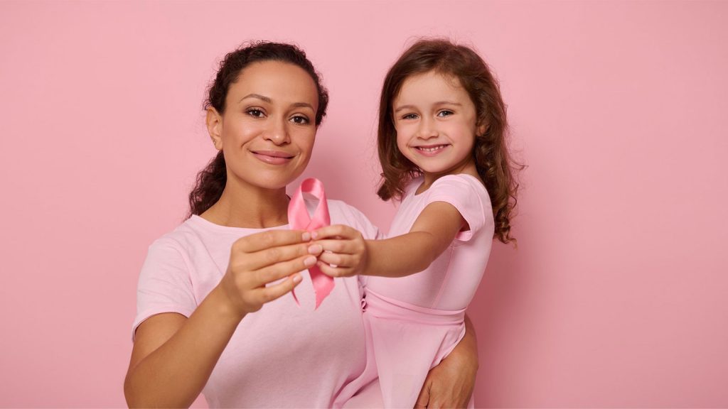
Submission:
[[[415,408],[467,408],[478,373],[475,327],[465,315],[465,335],[427,374]]]

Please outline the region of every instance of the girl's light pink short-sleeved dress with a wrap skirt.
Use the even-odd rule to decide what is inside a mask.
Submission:
[[[408,233],[432,202],[452,204],[470,229],[461,231],[422,272],[400,278],[363,277],[368,367],[358,381],[371,385],[378,373],[386,408],[413,408],[428,371],[462,339],[465,309],[486,269],[493,241],[491,202],[480,180],[446,175],[415,194],[422,181],[416,178],[409,184],[388,237]],[[371,396],[355,397],[347,407],[376,402],[376,387],[363,391]]]

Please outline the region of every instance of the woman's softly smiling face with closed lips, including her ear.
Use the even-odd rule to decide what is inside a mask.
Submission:
[[[264,61],[240,72],[224,114],[207,111],[207,129],[222,150],[228,180],[259,188],[284,188],[311,158],[318,93],[296,65]]]

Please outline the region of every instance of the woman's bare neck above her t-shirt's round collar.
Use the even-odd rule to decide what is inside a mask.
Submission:
[[[200,215],[221,226],[266,229],[288,223],[288,196],[285,187],[253,186],[234,176],[228,180],[220,199]]]

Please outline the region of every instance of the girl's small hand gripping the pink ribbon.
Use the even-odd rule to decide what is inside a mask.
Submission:
[[[331,277],[350,277],[361,274],[368,264],[367,244],[362,234],[343,224],[326,226],[313,231],[315,245],[320,245],[317,266]]]

